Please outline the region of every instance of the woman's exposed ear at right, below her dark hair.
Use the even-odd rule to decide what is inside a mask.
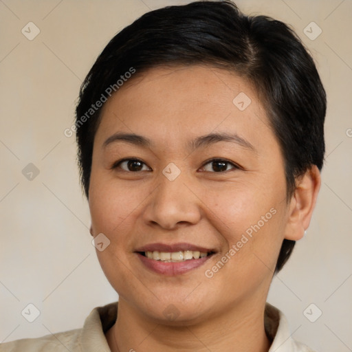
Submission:
[[[285,239],[298,241],[309,227],[311,215],[316,206],[316,199],[320,190],[320,172],[316,165],[298,179],[298,184],[289,204]]]

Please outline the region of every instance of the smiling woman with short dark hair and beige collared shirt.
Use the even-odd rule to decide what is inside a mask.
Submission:
[[[266,298],[311,220],[325,111],[296,34],[230,1],[122,30],[83,83],[75,126],[119,302],[0,351],[311,351]]]

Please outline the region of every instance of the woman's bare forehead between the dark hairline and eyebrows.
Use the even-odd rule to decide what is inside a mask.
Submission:
[[[104,104],[97,139],[116,131],[164,138],[234,131],[274,137],[254,87],[225,69],[157,67],[124,83]]]

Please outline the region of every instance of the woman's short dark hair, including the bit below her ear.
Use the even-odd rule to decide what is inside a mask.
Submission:
[[[195,1],[147,12],[116,34],[91,67],[80,88],[75,122],[80,181],[87,198],[101,118],[101,107],[94,104],[107,100],[111,88],[118,91],[118,80],[131,69],[137,75],[152,67],[203,64],[247,78],[263,100],[285,159],[287,199],[298,176],[313,165],[322,169],[325,89],[295,32],[270,17],[246,16],[231,1]],[[275,272],[295,243],[283,240]]]

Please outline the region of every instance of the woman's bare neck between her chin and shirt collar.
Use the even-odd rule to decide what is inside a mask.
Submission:
[[[255,307],[255,308],[254,308]],[[118,319],[106,333],[111,352],[120,351],[223,351],[267,352],[270,348],[264,329],[265,301],[233,307],[201,322],[162,325],[136,312],[119,300]]]

